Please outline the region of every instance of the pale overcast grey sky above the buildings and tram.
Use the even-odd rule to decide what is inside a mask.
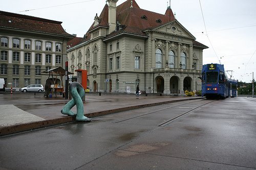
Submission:
[[[62,21],[62,27],[78,37],[86,34],[94,16],[105,5],[104,0],[1,1],[2,11]],[[124,1],[119,0],[117,5]],[[140,8],[161,14],[165,13],[167,2],[169,6],[169,0],[135,1]],[[209,46],[203,53],[204,64],[220,60],[226,70],[232,70],[232,78],[239,81],[250,82],[252,72],[256,77],[255,0],[172,0],[170,6],[176,19],[196,40]]]

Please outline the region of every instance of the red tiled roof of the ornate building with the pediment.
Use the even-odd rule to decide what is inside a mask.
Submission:
[[[101,11],[101,14],[99,16],[96,14],[95,17],[97,17],[96,19],[99,22],[98,25],[95,25],[94,22],[80,43],[90,40],[90,35],[93,30],[99,27],[109,28],[109,6],[106,4]],[[121,33],[147,37],[145,33],[146,30],[153,30],[157,27],[177,20],[175,19],[173,11],[170,7],[166,9],[165,14],[159,14],[141,9],[135,0],[133,0],[131,7],[131,0],[127,0],[121,5],[117,6],[116,21],[119,23],[121,29],[106,35],[106,39]],[[193,44],[198,47],[208,48],[208,46],[195,40],[193,40]]]

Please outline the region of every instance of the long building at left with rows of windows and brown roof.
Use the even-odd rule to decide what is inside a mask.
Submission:
[[[48,76],[40,72],[67,61],[67,42],[74,38],[62,22],[0,11],[0,78],[7,88],[29,84],[45,85]],[[60,82],[60,80],[59,80]]]

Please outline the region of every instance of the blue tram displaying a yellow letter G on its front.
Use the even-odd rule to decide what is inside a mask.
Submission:
[[[237,81],[227,78],[223,64],[205,64],[202,69],[202,96],[225,99],[237,96]]]

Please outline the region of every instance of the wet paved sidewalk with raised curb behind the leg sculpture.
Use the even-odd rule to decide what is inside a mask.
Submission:
[[[84,114],[87,117],[96,117],[106,114],[156,106],[177,101],[201,99],[193,96],[158,96],[148,94],[86,94]],[[63,123],[74,122],[74,116],[60,113],[60,110],[69,102],[61,95],[56,98],[44,98],[43,93],[20,93],[13,95],[0,94],[0,136],[32,129],[44,128]],[[76,112],[76,107],[72,108]]]

